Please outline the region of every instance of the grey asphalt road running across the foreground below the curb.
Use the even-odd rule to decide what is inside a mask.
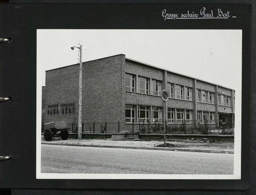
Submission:
[[[233,174],[234,154],[41,145],[41,173]]]

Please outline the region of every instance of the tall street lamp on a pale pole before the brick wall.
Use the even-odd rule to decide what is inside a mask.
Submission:
[[[71,47],[71,50],[78,48]],[[82,138],[82,45],[78,48],[80,50],[80,68],[79,68],[79,109],[78,109],[78,139]]]

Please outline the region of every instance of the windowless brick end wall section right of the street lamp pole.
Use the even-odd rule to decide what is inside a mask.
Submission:
[[[125,121],[125,55],[90,61],[82,69],[82,121]]]

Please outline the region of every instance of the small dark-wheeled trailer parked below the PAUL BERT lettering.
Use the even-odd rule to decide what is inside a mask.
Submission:
[[[47,123],[45,124],[45,140],[51,141],[53,137],[61,137],[62,140],[67,140],[69,138],[69,129],[70,128],[67,128],[66,121],[53,121]]]

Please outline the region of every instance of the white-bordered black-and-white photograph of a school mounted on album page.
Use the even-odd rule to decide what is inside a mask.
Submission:
[[[38,179],[241,177],[242,30],[38,29],[36,85]]]

